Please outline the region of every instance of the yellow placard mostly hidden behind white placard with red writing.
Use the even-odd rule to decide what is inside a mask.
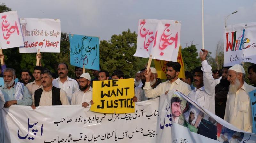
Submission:
[[[181,54],[181,45],[180,45],[180,48],[179,48],[177,62],[179,62],[180,65],[181,65],[180,74],[179,74],[178,77],[179,78],[185,78],[185,67],[184,67],[184,62],[183,62],[183,58],[182,58],[182,54]],[[154,64],[155,64],[155,68],[156,68],[156,71],[157,71],[158,78],[167,79],[167,77],[166,77],[166,64],[167,63],[168,63],[168,61],[154,59]]]

